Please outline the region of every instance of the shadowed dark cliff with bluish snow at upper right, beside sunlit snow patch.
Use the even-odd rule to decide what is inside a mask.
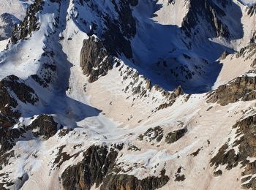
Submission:
[[[208,39],[221,39],[232,43],[232,40],[244,37],[243,25],[239,21],[243,14],[236,2],[189,1],[188,6],[181,31],[186,36],[184,42],[189,49],[206,44]],[[232,51],[230,45],[222,45],[226,46],[224,50]]]

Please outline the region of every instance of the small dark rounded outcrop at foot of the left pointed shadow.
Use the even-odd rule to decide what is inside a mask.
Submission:
[[[48,140],[56,134],[58,123],[54,121],[51,115],[39,115],[26,129],[33,131],[37,137],[42,136],[45,140]]]

